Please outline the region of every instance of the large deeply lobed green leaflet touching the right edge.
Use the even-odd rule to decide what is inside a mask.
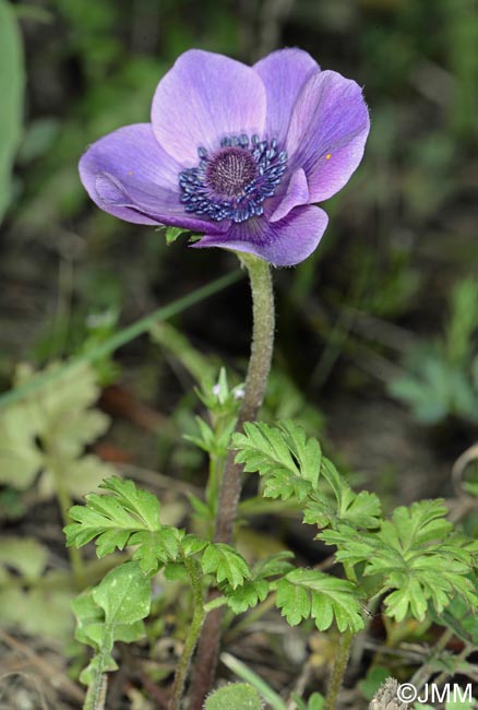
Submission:
[[[378,532],[357,535],[342,524],[318,537],[337,547],[337,560],[365,564],[363,575],[374,577],[378,593],[389,592],[386,614],[397,622],[408,614],[422,620],[431,602],[438,614],[458,594],[477,608],[478,596],[466,575],[471,571],[473,546],[453,532],[441,500],[422,500],[399,507]],[[394,590],[390,592],[390,590]]]

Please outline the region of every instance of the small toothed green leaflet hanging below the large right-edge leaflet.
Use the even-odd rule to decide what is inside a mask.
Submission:
[[[277,582],[277,606],[290,626],[313,618],[320,631],[334,620],[339,631],[363,628],[357,588],[313,569],[295,569]]]

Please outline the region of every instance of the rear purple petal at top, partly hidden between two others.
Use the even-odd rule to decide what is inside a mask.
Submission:
[[[302,49],[278,49],[254,64],[267,94],[267,137],[284,141],[294,105],[308,79],[320,67]]]

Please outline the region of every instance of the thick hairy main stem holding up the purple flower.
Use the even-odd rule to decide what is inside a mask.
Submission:
[[[239,256],[249,272],[252,292],[252,345],[246,377],[244,398],[239,412],[236,431],[246,422],[258,418],[265,394],[274,348],[274,294],[271,269],[267,262],[252,255]],[[226,460],[216,518],[215,541],[230,544],[242,487],[242,466],[235,462],[235,452]],[[220,646],[220,624],[224,607],[213,610],[205,620],[198,648],[190,691],[190,710],[201,710],[204,698],[214,683]]]

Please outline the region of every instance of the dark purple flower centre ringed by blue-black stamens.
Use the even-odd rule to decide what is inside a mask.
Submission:
[[[287,153],[277,150],[277,141],[260,141],[255,134],[251,141],[246,134],[225,138],[211,156],[205,147],[198,155],[198,167],[179,174],[181,202],[187,212],[215,222],[261,215],[287,168]]]

